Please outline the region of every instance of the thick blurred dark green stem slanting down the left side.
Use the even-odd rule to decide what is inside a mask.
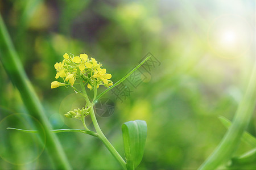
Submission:
[[[46,148],[48,150],[48,154],[53,159],[52,162],[56,165],[55,168],[71,169],[59,140],[55,134],[51,133],[51,124],[49,124],[48,118],[44,113],[43,106],[27,78],[18,54],[14,49],[13,42],[11,42],[9,33],[7,32],[5,24],[3,23],[1,15],[0,60],[3,63],[3,67],[5,68],[6,73],[9,75],[11,81],[18,88],[28,113],[39,120],[39,122],[42,124],[43,128],[39,124],[35,124],[35,126],[39,131],[39,136],[42,141],[44,138],[47,139]]]

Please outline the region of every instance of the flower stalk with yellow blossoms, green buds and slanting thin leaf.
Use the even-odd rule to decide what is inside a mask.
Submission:
[[[85,107],[82,109],[75,109],[74,111],[69,111],[65,114],[66,117],[69,118],[77,118],[82,121],[82,124],[84,125],[84,128],[88,133],[92,133],[88,129],[88,127],[85,124],[85,118],[87,115],[90,115],[90,118],[92,119],[94,129],[96,132],[93,132],[108,148],[110,153],[114,156],[114,158],[119,162],[119,164],[122,166],[123,169],[127,169],[127,163],[125,160],[123,160],[122,156],[119,155],[117,150],[113,147],[113,145],[109,142],[109,140],[105,137],[104,133],[102,133],[100,126],[98,125],[95,113],[94,113],[94,104],[97,102],[98,99],[100,99],[101,96],[106,94],[109,90],[117,86],[118,84],[122,83],[128,76],[134,73],[144,62],[147,61],[147,59],[150,58],[147,57],[142,61],[137,67],[135,67],[133,70],[131,70],[126,76],[124,76],[122,79],[120,79],[117,83],[113,84],[113,82],[110,80],[112,78],[111,74],[106,73],[106,69],[102,69],[102,64],[98,63],[96,59],[94,58],[88,58],[87,54],[80,54],[79,56],[69,56],[67,53],[63,55],[64,59],[63,62],[56,63],[54,65],[57,73],[55,78],[62,78],[64,80],[64,83],[60,83],[57,81],[52,82],[52,88],[56,88],[59,86],[71,86],[73,90],[75,90],[76,93],[82,95],[86,101]],[[79,80],[80,89],[81,91],[77,90],[76,87],[76,80]],[[69,81],[69,82],[68,82]],[[63,85],[64,84],[64,85]],[[100,85],[104,85],[105,87],[108,87],[104,92],[102,92],[100,95],[97,95],[97,88]],[[93,90],[93,100],[90,101],[89,97],[86,92],[87,90]],[[110,87],[111,86],[111,87]]]

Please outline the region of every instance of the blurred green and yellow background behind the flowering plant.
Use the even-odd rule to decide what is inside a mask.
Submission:
[[[138,169],[195,169],[210,155],[232,120],[255,56],[255,1],[4,0],[0,11],[24,69],[54,129],[82,128],[64,117],[85,103],[71,88],[51,89],[64,53],[86,53],[112,74],[126,75],[150,52],[160,61],[149,81],[115,111],[97,116],[106,137],[124,157],[121,125],[145,120],[148,137]],[[6,56],[8,57],[8,56]],[[19,91],[0,63],[0,168],[51,169],[32,129]],[[105,87],[101,87],[103,91]],[[87,124],[90,124],[89,119]],[[248,131],[255,135],[255,115]],[[89,125],[89,127],[92,127]],[[57,134],[73,169],[118,169],[100,140]],[[249,150],[241,143],[235,155]]]

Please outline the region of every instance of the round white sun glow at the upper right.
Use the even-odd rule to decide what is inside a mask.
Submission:
[[[250,25],[237,15],[220,16],[214,20],[208,32],[210,47],[224,58],[244,56],[251,40]]]

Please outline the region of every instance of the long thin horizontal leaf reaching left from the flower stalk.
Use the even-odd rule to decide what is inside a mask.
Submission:
[[[25,130],[25,129],[16,129],[16,128],[7,128],[7,129],[23,131],[25,133],[38,133],[37,130]],[[81,132],[81,133],[85,133],[85,134],[89,134],[89,135],[92,135],[94,137],[97,137],[97,134],[94,131],[89,131],[89,130],[81,130],[81,129],[54,129],[54,130],[51,130],[51,131],[53,133],[75,131],[75,132]]]

